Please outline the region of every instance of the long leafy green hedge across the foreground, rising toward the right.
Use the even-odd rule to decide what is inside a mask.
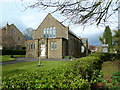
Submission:
[[[81,89],[89,90],[94,82],[96,71],[101,69],[102,61],[98,56],[88,56],[70,61],[66,67],[55,70],[34,71],[12,77],[3,77],[2,89]]]

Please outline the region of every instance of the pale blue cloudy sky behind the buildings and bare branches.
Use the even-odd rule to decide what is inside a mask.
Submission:
[[[26,28],[29,27],[37,29],[37,27],[41,24],[47,14],[52,11],[52,9],[44,11],[40,10],[39,8],[29,8],[24,11],[24,6],[28,3],[28,1],[0,1],[0,27],[5,26],[8,22],[8,24],[15,24],[22,33],[24,33]],[[60,22],[65,19],[65,17],[63,17],[58,12],[53,13],[52,16]],[[117,20],[118,14],[115,14],[110,18],[111,23],[108,23],[106,25],[109,25],[111,30],[116,30],[118,25]],[[90,45],[101,45],[98,38],[103,34],[106,25],[96,26],[95,24],[93,24],[83,29],[83,26],[79,24],[70,24],[68,22],[64,22],[63,24],[65,26],[69,26],[70,30],[73,31],[77,36],[88,38]]]

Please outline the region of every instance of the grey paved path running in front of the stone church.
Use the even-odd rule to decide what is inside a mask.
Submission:
[[[41,61],[70,61],[71,59],[41,59]],[[14,63],[20,63],[20,62],[31,62],[31,61],[38,61],[37,58],[16,58],[14,61],[6,61],[0,63],[0,65],[6,65],[6,64],[14,64]]]

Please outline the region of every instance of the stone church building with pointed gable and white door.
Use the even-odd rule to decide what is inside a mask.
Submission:
[[[82,39],[48,14],[43,22],[33,31],[33,40],[26,41],[26,57],[64,58],[65,56],[82,57],[87,55]]]

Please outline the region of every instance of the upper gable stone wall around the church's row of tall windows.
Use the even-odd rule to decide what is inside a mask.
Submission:
[[[68,39],[69,28],[62,25],[59,21],[52,17],[51,14],[48,14],[46,18],[43,20],[43,22],[38,26],[38,28],[33,31],[33,39],[44,38],[43,29],[51,27],[56,28],[56,38]]]

